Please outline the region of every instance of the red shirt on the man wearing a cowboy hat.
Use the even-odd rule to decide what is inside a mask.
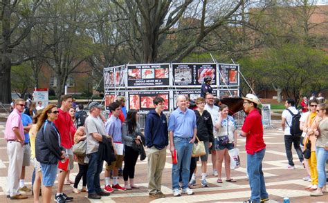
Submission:
[[[263,139],[262,117],[257,109],[251,110],[245,118],[242,131],[246,135],[246,153],[253,155],[265,148]]]

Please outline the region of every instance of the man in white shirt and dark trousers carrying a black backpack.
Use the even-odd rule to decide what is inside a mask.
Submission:
[[[287,99],[284,106],[286,109],[282,112],[282,131],[284,131],[284,146],[288,165],[286,169],[294,169],[293,154],[291,153],[291,144],[294,144],[296,153],[300,162],[303,163],[304,158],[300,148],[300,112],[295,108],[294,99]]]

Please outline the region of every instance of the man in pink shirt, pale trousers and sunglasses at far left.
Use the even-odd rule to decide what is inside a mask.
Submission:
[[[15,100],[15,108],[8,116],[5,128],[5,139],[7,141],[8,164],[8,191],[10,200],[23,200],[28,198],[19,193],[19,177],[23,166],[24,156],[24,127],[21,122],[21,113],[25,107],[24,99]]]

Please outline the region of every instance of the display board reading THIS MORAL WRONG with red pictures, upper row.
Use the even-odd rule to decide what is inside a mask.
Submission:
[[[170,86],[170,64],[127,65],[128,88]]]

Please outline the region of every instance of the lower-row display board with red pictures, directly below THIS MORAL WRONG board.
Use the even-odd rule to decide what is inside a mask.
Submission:
[[[128,92],[128,107],[129,109],[139,110],[140,113],[147,113],[149,110],[155,108],[153,99],[162,97],[165,102],[164,111],[171,109],[170,105],[170,91],[169,90],[154,90],[154,91],[129,91]]]

